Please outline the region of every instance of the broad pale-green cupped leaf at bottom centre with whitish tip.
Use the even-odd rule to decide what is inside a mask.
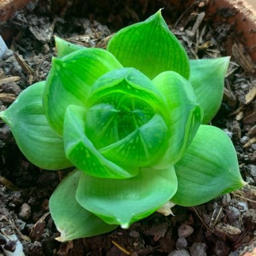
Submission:
[[[166,170],[141,168],[136,177],[124,180],[98,179],[83,174],[76,198],[104,222],[128,228],[158,210],[176,191],[173,166]]]

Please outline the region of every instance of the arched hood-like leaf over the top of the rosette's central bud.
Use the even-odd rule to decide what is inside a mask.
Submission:
[[[124,102],[124,97],[120,94],[132,97],[129,98],[130,102],[133,102],[134,98],[139,98],[154,110],[160,110],[162,115],[166,115],[166,102],[158,88],[146,75],[133,67],[117,69],[102,75],[92,86],[87,106],[102,100],[122,106],[127,102]]]

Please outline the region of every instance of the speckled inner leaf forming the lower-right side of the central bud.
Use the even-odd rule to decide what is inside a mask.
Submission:
[[[168,128],[161,115],[135,129],[124,139],[102,148],[100,153],[110,161],[123,166],[148,166],[166,148],[164,142]]]

